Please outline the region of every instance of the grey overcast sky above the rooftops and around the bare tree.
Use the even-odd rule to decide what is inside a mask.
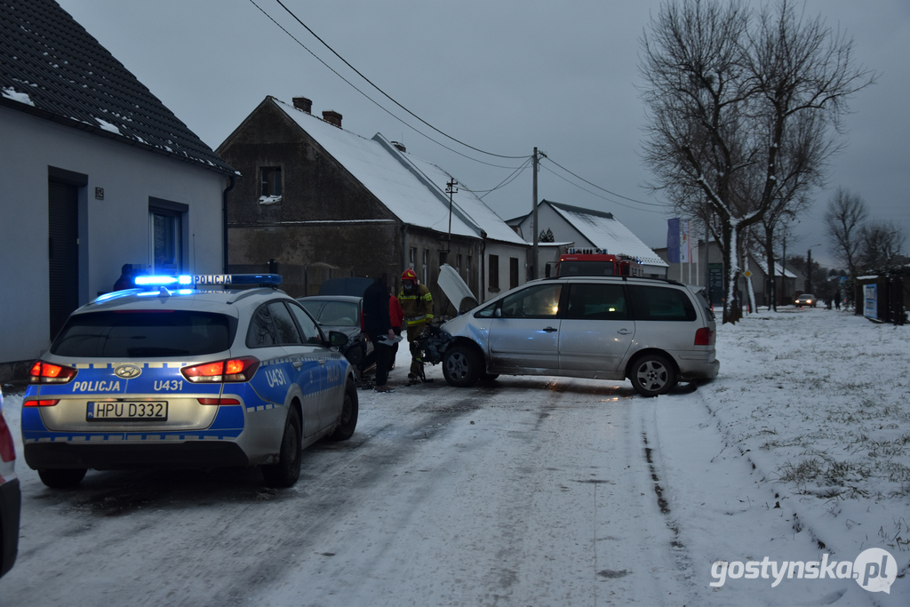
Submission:
[[[251,0],[58,2],[213,149],[265,96],[288,103],[306,96],[315,115],[335,110],[351,132],[403,142],[474,190],[497,186],[523,162],[460,146],[421,124],[344,66],[277,0],[255,3],[369,98]],[[552,162],[619,195],[545,160],[539,197],[609,211],[649,246],[665,246],[672,215],[654,206],[664,200],[647,188],[652,177],[641,159],[638,71],[640,39],[658,0],[283,2],[386,94],[446,135],[506,157],[530,157],[538,147]],[[852,100],[847,147],[834,159],[829,187],[816,192],[812,211],[796,227],[799,239],[788,244],[788,254],[823,245],[813,256],[825,263],[830,255],[821,218],[837,186],[863,197],[874,219],[893,221],[910,236],[910,2],[804,5],[808,15],[823,15],[851,35],[856,60],[879,74],[875,86]],[[457,155],[414,128],[489,164]],[[528,213],[531,200],[530,169],[484,197],[506,219]]]

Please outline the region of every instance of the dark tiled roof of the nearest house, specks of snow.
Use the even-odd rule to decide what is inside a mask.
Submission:
[[[0,2],[0,106],[235,173],[56,2]]]

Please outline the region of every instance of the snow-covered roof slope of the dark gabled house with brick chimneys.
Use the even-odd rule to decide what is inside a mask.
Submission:
[[[389,154],[382,143],[360,137],[317,116],[268,97],[288,117],[345,167],[373,196],[402,222],[442,233],[449,231],[449,207],[406,167]],[[456,214],[451,217],[451,233],[480,238]]]

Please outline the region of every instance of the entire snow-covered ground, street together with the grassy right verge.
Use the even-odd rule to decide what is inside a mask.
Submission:
[[[101,600],[108,591],[94,585],[96,573],[80,573],[74,564],[91,552],[96,565],[109,569],[109,592],[140,588],[135,572],[149,568],[158,573],[152,586],[141,586],[146,604],[172,593],[181,597],[177,603],[203,604],[207,589],[218,590],[219,576],[242,572],[238,563],[251,557],[239,548],[218,549],[217,560],[203,568],[209,573],[180,582],[168,577],[177,573],[167,569],[175,558],[167,546],[181,546],[184,560],[194,561],[242,541],[245,550],[257,551],[254,561],[289,573],[274,590],[243,591],[238,604],[301,604],[301,596],[313,604],[350,604],[372,596],[372,604],[426,605],[545,605],[557,604],[556,597],[566,599],[558,604],[906,605],[908,330],[825,309],[751,315],[718,328],[718,379],[697,389],[683,384],[658,399],[635,395],[629,382],[584,379],[501,378],[452,389],[439,366],[429,367],[431,384],[389,395],[361,391],[352,444],[313,450],[307,480],[274,498],[260,494],[249,475],[200,477],[206,489],[195,492],[142,477],[157,483],[155,491],[165,494],[160,501],[110,472],[91,473],[76,492],[56,493],[20,457],[24,539],[14,571],[0,581],[0,601],[34,599],[27,581],[47,559],[56,563],[54,576],[76,576],[54,577],[47,592],[76,592],[74,602]],[[397,362],[392,386],[404,381],[407,349]],[[21,394],[7,394],[5,417],[20,455],[21,403]],[[426,430],[428,423],[434,430]],[[591,470],[596,482],[556,482],[566,470]],[[417,472],[422,481],[404,481]],[[428,481],[437,476],[440,481]],[[330,499],[320,497],[322,485]],[[347,497],[331,496],[339,488]],[[591,503],[582,488],[591,491]],[[210,499],[202,497],[207,491]],[[140,495],[137,506],[108,512],[110,504],[129,505],[133,493]],[[342,505],[348,516],[334,527],[304,516],[328,516]],[[296,526],[312,525],[309,535],[263,522],[292,512],[299,512]],[[86,513],[95,515],[86,522]],[[168,531],[174,521],[179,524]],[[330,532],[319,535],[320,527]],[[89,531],[76,532],[83,528]],[[221,538],[228,528],[236,539],[206,548],[207,530],[222,530]],[[280,546],[284,534],[303,543],[269,556],[266,547]],[[331,540],[333,547],[313,556],[301,538]],[[867,549],[884,549],[896,560],[890,593],[868,592],[848,577],[799,579],[810,561],[846,575],[845,564],[852,572]],[[478,561],[471,552],[483,550],[496,558]],[[145,557],[136,561],[134,551]],[[313,559],[336,551],[339,566],[329,583]],[[784,561],[788,570],[800,563],[792,579],[781,570]],[[860,574],[875,582],[879,562]],[[396,582],[403,571],[409,580]],[[507,571],[508,580],[492,575]],[[749,579],[750,571],[757,577]],[[328,590],[305,590],[319,583],[329,583]],[[501,595],[484,593],[500,587]]]

